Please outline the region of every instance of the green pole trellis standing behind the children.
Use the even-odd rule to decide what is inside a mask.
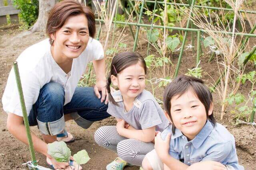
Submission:
[[[131,6],[133,5],[131,0],[127,0],[127,1],[128,1],[128,3]],[[179,71],[179,68],[180,68],[180,63],[181,63],[181,59],[182,59],[182,55],[183,55],[183,51],[184,51],[184,47],[185,47],[186,37],[187,37],[188,31],[196,32],[196,36],[197,36],[197,41],[196,41],[197,42],[196,65],[200,61],[200,53],[202,52],[202,48],[201,48],[201,45],[200,45],[200,37],[201,37],[201,33],[202,32],[206,32],[206,30],[205,29],[197,29],[197,28],[191,28],[190,27],[190,18],[191,18],[192,12],[193,12],[193,8],[205,8],[205,9],[209,9],[209,10],[233,11],[232,9],[229,9],[229,8],[219,8],[219,7],[212,7],[212,6],[194,5],[195,4],[195,0],[188,0],[189,4],[181,4],[181,3],[173,3],[173,2],[160,2],[160,1],[157,1],[157,0],[154,0],[154,1],[153,0],[136,0],[136,2],[138,2],[138,1],[141,2],[140,13],[138,14],[138,12],[136,12],[136,14],[139,16],[138,17],[138,22],[128,22],[128,21],[127,22],[123,22],[123,21],[116,21],[116,19],[115,19],[114,21],[112,21],[114,23],[114,32],[115,32],[116,24],[124,24],[124,25],[129,25],[129,26],[130,25],[135,25],[136,26],[135,37],[134,37],[134,33],[133,33],[133,31],[132,31],[132,29],[130,27],[130,31],[131,31],[131,33],[132,33],[132,35],[134,37],[133,51],[135,51],[136,47],[137,47],[138,34],[139,34],[140,27],[150,27],[149,40],[151,38],[152,28],[164,28],[164,29],[173,29],[173,30],[185,31],[184,37],[183,37],[183,40],[182,40],[181,49],[180,49],[180,54],[179,54],[179,57],[178,57],[178,63],[177,63],[176,68],[175,68],[175,73],[174,73],[175,77],[178,76],[178,71]],[[118,2],[119,2],[119,0],[118,0]],[[116,3],[116,9],[118,7],[118,2]],[[146,2],[154,3],[154,10],[153,10],[153,17],[152,17],[151,24],[141,23],[142,14],[143,14],[143,11],[144,11],[144,5],[145,5]],[[108,0],[105,0],[105,7],[106,7],[107,3],[108,3]],[[166,25],[154,25],[154,23],[153,23],[153,21],[154,21],[154,14],[155,14],[155,10],[156,10],[157,4],[167,4],[167,5],[176,5],[176,6],[190,7],[190,12],[189,12],[189,17],[188,17],[188,20],[187,20],[186,28],[184,28],[184,27],[172,27],[172,26],[166,26]],[[122,6],[123,9],[125,9],[124,8],[124,4],[122,3],[122,0],[121,0],[121,6]],[[248,14],[256,14],[256,11],[249,11],[249,10],[239,10],[239,12],[248,13]],[[127,15],[127,11],[126,10],[124,10],[124,13],[125,13],[125,15]],[[117,12],[115,13],[115,16],[116,15],[117,15]],[[103,22],[102,19],[96,19],[96,21],[99,21],[101,23]],[[256,29],[256,25],[254,25],[254,27],[251,29],[250,33],[240,33],[240,32],[236,32],[235,33],[235,35],[244,35],[244,36],[246,36],[246,38],[242,41],[242,46],[240,47],[240,49],[245,47],[245,44],[248,42],[249,37],[256,37],[256,35],[254,34],[254,30],[255,29]],[[99,38],[99,36],[100,36],[100,31],[101,31],[101,27],[99,27],[99,29],[98,29],[97,38]],[[113,32],[113,34],[114,34],[114,32]],[[232,35],[232,32],[228,32],[228,31],[214,31],[214,32]],[[194,36],[192,36],[192,37],[194,37]],[[192,41],[192,42],[194,42],[194,41]],[[149,46],[150,46],[150,41],[148,41],[147,55],[148,55],[148,52],[149,52]],[[250,55],[248,55],[248,57],[246,57],[246,59],[243,62],[244,65],[250,59],[251,55],[254,54],[255,50],[256,50],[256,47],[254,47],[252,49],[252,51],[250,52]],[[222,76],[223,75],[224,75],[224,72],[223,72]],[[216,88],[216,86],[220,82],[221,77],[216,81],[216,84],[214,85],[213,89]]]

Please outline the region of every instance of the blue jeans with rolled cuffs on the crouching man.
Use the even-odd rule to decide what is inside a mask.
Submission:
[[[92,87],[76,87],[71,101],[65,106],[64,96],[64,88],[60,84],[45,84],[28,116],[29,125],[38,125],[42,134],[57,135],[65,127],[65,114],[70,113],[74,121],[85,129],[94,121],[110,116],[106,112],[108,105],[100,102]]]

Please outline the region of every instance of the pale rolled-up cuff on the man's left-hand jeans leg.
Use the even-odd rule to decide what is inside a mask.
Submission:
[[[60,119],[52,122],[42,122],[37,118],[36,121],[38,123],[39,131],[44,135],[58,135],[63,131],[65,127],[64,115]]]

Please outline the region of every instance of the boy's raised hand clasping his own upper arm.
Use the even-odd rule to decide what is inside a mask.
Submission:
[[[155,149],[160,159],[167,158],[169,156],[171,133],[168,133],[165,141],[161,138],[161,132],[157,133],[155,137]]]

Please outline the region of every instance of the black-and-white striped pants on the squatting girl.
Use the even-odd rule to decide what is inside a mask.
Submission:
[[[117,152],[126,162],[141,166],[146,154],[154,149],[154,144],[136,139],[128,139],[118,134],[116,126],[102,126],[96,130],[94,139],[101,147]]]

